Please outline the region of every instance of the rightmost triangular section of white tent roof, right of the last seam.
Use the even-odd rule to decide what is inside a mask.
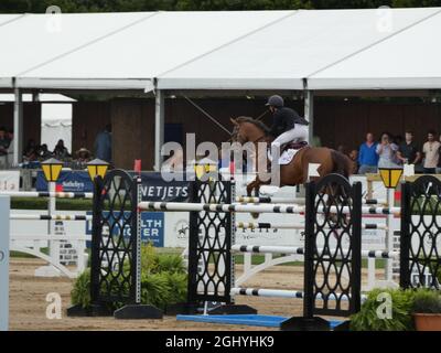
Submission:
[[[311,89],[441,88],[441,13],[309,77]]]

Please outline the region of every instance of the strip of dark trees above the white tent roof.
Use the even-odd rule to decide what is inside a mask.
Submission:
[[[441,7],[441,0],[0,0],[0,13],[42,13],[53,4],[62,12],[122,12],[418,8]]]

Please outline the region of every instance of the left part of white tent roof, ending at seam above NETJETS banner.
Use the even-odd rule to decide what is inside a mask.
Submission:
[[[0,76],[18,77],[21,87],[142,89],[157,75],[287,13],[291,11],[63,14],[60,33],[47,31],[56,15],[29,15],[17,23],[21,30],[12,24],[0,29],[9,38],[3,45],[13,49],[0,57],[0,67],[7,67]],[[23,47],[26,41],[30,45]]]

